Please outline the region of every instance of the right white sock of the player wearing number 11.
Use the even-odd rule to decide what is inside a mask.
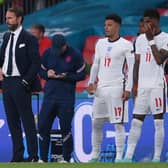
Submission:
[[[164,122],[163,119],[154,120],[155,123],[155,151],[154,160],[160,160],[160,155],[162,152],[163,142],[164,142]]]

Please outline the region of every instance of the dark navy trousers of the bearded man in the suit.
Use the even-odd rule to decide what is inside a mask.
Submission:
[[[31,93],[21,84],[20,77],[6,77],[2,82],[3,102],[7,122],[13,143],[13,160],[23,159],[24,144],[22,125],[24,127],[28,154],[38,158],[37,135],[32,112]]]

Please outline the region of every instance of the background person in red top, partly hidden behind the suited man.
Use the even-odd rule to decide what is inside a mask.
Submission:
[[[40,56],[42,56],[45,50],[51,47],[51,39],[47,36],[44,36],[45,27],[42,24],[32,25],[30,28],[30,32],[38,39],[39,52]]]

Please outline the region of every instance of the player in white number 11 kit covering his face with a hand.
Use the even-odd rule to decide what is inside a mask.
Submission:
[[[166,107],[163,64],[168,57],[168,34],[161,32],[160,15],[156,9],[144,12],[145,33],[138,36],[135,45],[133,92],[136,96],[133,120],[128,137],[125,161],[131,161],[141,135],[144,118],[154,116],[155,145],[153,162],[160,161],[164,141],[163,114]],[[138,90],[136,89],[138,86]]]

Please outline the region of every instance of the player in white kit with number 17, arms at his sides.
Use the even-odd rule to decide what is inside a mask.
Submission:
[[[97,160],[101,149],[104,122],[114,123],[116,142],[116,162],[123,156],[125,128],[128,112],[124,102],[128,100],[132,88],[134,55],[132,43],[120,37],[121,18],[110,14],[105,18],[106,38],[98,40],[95,58],[91,68],[88,92],[94,94],[92,160]],[[123,69],[128,65],[127,81]],[[95,83],[97,87],[95,88]]]

